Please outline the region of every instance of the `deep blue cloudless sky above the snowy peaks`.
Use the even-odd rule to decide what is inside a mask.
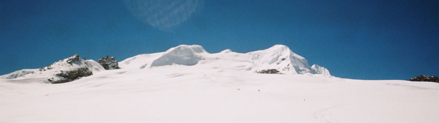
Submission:
[[[439,75],[439,0],[0,0],[0,74],[74,54],[283,44],[341,78]]]

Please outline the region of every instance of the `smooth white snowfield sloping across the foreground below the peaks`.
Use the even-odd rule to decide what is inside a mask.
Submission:
[[[439,123],[434,82],[175,64],[33,81],[0,80],[0,123]]]

